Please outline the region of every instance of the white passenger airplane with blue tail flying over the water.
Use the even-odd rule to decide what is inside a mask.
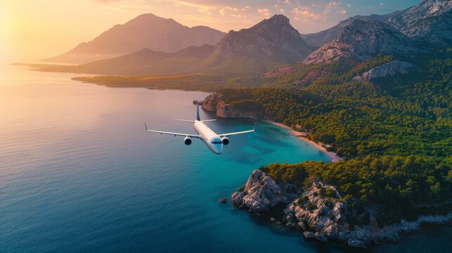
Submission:
[[[251,133],[256,129],[256,124],[254,124],[254,128],[252,130],[247,131],[238,131],[235,133],[227,133],[227,134],[216,134],[212,129],[209,128],[204,122],[212,122],[217,119],[206,119],[201,120],[200,119],[200,105],[197,103],[196,105],[196,120],[186,120],[186,119],[176,119],[181,122],[190,122],[194,124],[195,131],[198,134],[181,134],[181,133],[172,133],[168,131],[157,131],[157,130],[151,130],[148,129],[148,126],[146,125],[146,122],[144,122],[144,126],[146,127],[146,131],[150,131],[157,134],[169,134],[174,136],[185,136],[183,138],[183,143],[185,145],[191,145],[191,138],[199,138],[201,141],[203,141],[207,148],[212,150],[213,153],[220,155],[223,152],[223,146],[229,144],[228,136],[233,136],[237,134],[247,134]]]

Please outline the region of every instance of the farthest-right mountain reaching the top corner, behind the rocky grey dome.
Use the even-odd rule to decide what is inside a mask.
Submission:
[[[342,20],[339,24],[321,32],[302,34],[306,44],[320,47],[332,41],[343,27],[352,20],[375,19],[385,22],[396,28],[408,37],[417,41],[433,43],[437,46],[452,45],[452,1],[451,0],[425,0],[406,8],[385,15],[356,15],[353,18]]]

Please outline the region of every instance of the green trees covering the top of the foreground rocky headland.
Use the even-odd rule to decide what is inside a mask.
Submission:
[[[325,191],[328,197],[354,200],[361,209],[369,204],[383,210],[379,224],[415,219],[416,207],[450,200],[451,159],[410,155],[373,157],[368,155],[335,163],[302,162],[269,164],[260,169],[276,181],[309,187],[314,179],[337,186],[341,196]],[[322,195],[321,191],[321,195]]]

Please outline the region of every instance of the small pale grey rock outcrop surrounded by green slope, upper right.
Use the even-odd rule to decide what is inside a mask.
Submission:
[[[394,77],[396,74],[408,74],[411,70],[415,70],[415,66],[413,64],[402,62],[400,60],[394,60],[390,63],[374,67],[373,69],[364,72],[361,76],[354,77],[354,79],[371,80],[375,78]]]

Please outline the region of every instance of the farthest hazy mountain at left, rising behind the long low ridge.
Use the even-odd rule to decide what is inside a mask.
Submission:
[[[149,48],[174,53],[187,46],[216,44],[224,32],[205,26],[186,27],[172,18],[160,18],[152,13],[139,15],[124,25],[115,25],[92,41],[79,44],[60,56],[44,61],[58,63],[89,63],[122,56]]]

